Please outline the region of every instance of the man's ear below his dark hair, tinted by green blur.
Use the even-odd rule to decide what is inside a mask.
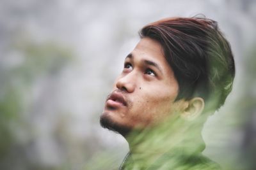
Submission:
[[[200,116],[204,110],[204,99],[201,97],[194,97],[187,102],[188,104],[180,116],[185,120],[191,121]]]

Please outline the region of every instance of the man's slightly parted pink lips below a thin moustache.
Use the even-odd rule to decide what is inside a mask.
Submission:
[[[120,92],[113,92],[106,101],[106,106],[109,108],[118,108],[120,106],[127,106],[124,96]]]

